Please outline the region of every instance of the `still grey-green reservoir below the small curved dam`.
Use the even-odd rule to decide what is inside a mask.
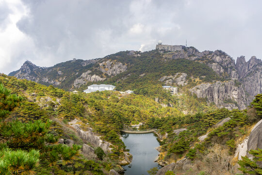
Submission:
[[[122,140],[133,156],[131,164],[123,167],[126,170],[124,175],[148,175],[147,170],[160,167],[157,162],[154,162],[159,154],[155,149],[159,146],[159,142],[154,133],[123,133]]]

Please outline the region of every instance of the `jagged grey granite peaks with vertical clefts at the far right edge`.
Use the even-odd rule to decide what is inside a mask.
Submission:
[[[252,56],[246,62],[245,56],[240,56],[236,61],[239,81],[249,94],[248,101],[252,102],[254,96],[262,93],[262,60]]]

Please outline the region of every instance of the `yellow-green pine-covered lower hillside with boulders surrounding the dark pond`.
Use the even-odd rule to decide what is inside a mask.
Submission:
[[[129,164],[131,155],[120,139],[120,130],[131,123],[142,122],[140,129],[158,129],[158,162],[168,164],[158,175],[167,171],[181,175],[233,175],[240,172],[237,159],[245,156],[245,151],[239,149],[246,138],[253,140],[247,141],[247,150],[261,147],[262,127],[257,123],[261,120],[261,94],[253,101],[253,107],[229,111],[208,106],[206,100],[193,96],[171,96],[170,101],[178,105],[163,106],[145,95],[117,91],[74,94],[4,74],[0,82],[4,87],[0,87],[0,155],[16,157],[16,148],[23,150],[19,154],[25,156],[35,154],[38,158],[26,171],[36,174],[108,175],[109,171],[123,171],[119,165]],[[191,105],[197,113],[183,114],[182,104]],[[255,123],[257,129],[253,127]],[[18,170],[24,172],[22,166]],[[8,171],[14,170],[17,167]]]

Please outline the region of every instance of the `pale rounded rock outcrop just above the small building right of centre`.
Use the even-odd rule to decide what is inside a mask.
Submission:
[[[186,78],[186,73],[176,73],[174,76],[163,76],[159,79],[159,81],[165,82],[165,85],[173,85],[175,83],[179,86],[185,86],[187,85]]]

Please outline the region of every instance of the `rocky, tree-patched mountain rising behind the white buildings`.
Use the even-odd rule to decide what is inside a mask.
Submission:
[[[262,93],[261,63],[255,57],[246,62],[241,56],[235,64],[222,51],[199,52],[187,47],[162,53],[157,50],[119,52],[104,58],[71,60],[49,68],[26,61],[21,69],[9,75],[66,90],[83,90],[93,83],[113,84],[117,90],[132,89],[136,94],[152,98],[163,98],[156,86],[178,86],[180,94],[196,94],[219,108],[244,109],[256,94]]]

